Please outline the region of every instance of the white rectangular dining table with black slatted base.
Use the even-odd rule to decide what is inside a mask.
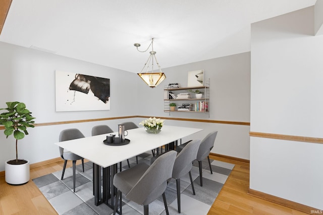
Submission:
[[[108,146],[103,143],[107,135],[116,134],[118,136],[117,132],[56,142],[55,145],[93,163],[93,194],[95,197],[95,205],[104,202],[109,206],[113,206],[113,198],[111,198],[111,205],[108,203],[108,198],[111,195],[113,196],[115,192],[112,189],[113,193],[111,194],[110,188],[113,187],[113,176],[117,171],[116,164],[144,152],[167,145],[170,142],[181,140],[183,137],[201,130],[203,129],[164,125],[160,133],[152,134],[147,133],[143,127],[140,127],[127,130],[128,135],[125,138],[130,140],[127,145]],[[103,196],[101,193],[101,167],[103,168]],[[112,168],[111,174],[110,167],[114,167]],[[109,177],[110,175],[111,177]]]

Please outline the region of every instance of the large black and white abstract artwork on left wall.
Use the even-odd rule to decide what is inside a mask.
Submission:
[[[56,111],[110,110],[110,79],[56,70]]]

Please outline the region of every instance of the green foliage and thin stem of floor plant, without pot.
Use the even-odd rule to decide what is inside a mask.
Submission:
[[[18,139],[22,139],[28,134],[27,127],[34,127],[34,117],[31,112],[26,109],[26,105],[22,102],[6,102],[7,108],[0,108],[0,110],[7,110],[0,114],[0,124],[5,126],[5,135],[10,136],[14,134],[16,139],[16,163],[18,163]]]

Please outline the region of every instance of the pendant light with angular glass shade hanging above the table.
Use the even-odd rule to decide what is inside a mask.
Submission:
[[[135,43],[134,46],[136,46],[137,50],[140,51],[138,49],[138,47],[140,47],[140,43]],[[154,88],[157,85],[159,85],[162,81],[164,81],[166,79],[166,76],[164,73],[161,72],[160,65],[156,59],[156,55],[155,55],[156,52],[153,50],[153,38],[151,39],[151,43],[149,44],[148,48],[145,51],[140,51],[140,52],[146,52],[150,46],[151,46],[151,51],[149,52],[150,55],[149,55],[146,63],[144,64],[143,68],[141,69],[140,73],[138,73],[138,76],[140,76],[140,78],[149,87]],[[154,61],[156,62],[158,70],[159,70],[159,72],[157,72],[157,73],[153,72]],[[149,68],[150,65],[151,65],[151,68]],[[150,72],[148,72],[148,71],[150,71]]]

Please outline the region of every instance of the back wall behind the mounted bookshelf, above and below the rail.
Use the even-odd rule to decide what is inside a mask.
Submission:
[[[162,62],[159,62],[162,66]],[[204,69],[204,80],[210,79],[210,115],[203,113],[172,112],[164,110],[164,86],[179,83],[187,87],[188,71]],[[160,117],[209,119],[223,121],[250,121],[250,52],[219,57],[184,65],[163,68],[167,79],[155,89],[138,83],[140,109],[138,115]],[[181,105],[184,102],[176,102]],[[166,121],[165,123],[169,123]],[[217,123],[172,122],[175,125],[204,128],[203,135],[218,130],[212,153],[249,160],[249,126]]]

